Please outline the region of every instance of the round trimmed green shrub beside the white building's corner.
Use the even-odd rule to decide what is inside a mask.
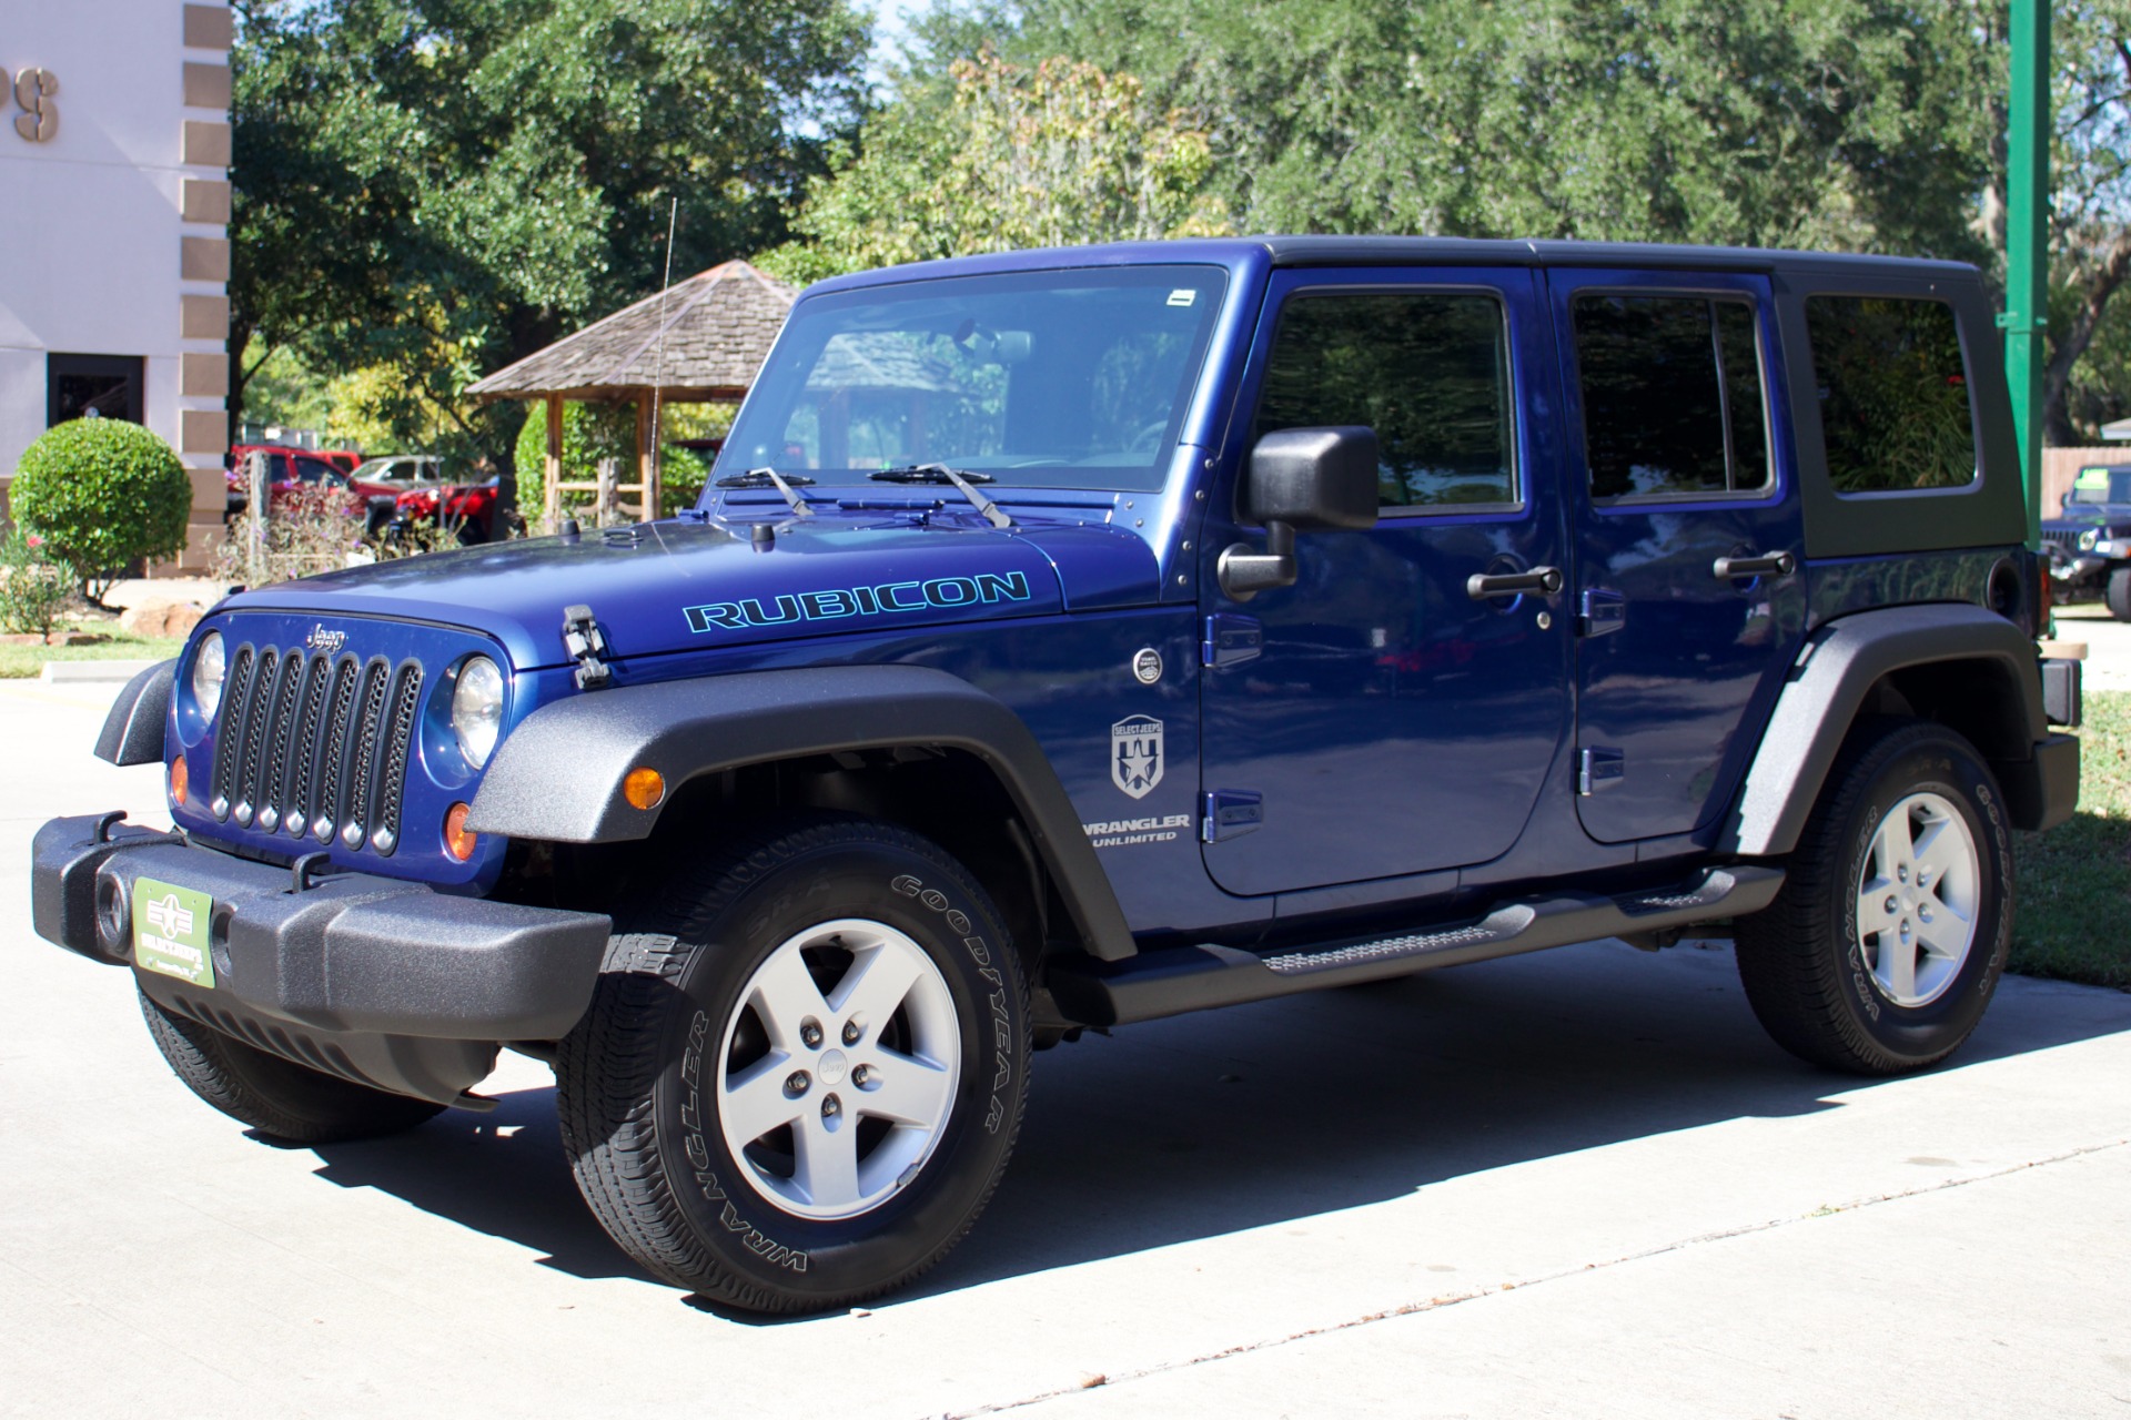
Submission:
[[[92,602],[136,560],[185,547],[192,479],[162,439],[126,419],[68,419],[23,449],[15,517],[45,539]]]

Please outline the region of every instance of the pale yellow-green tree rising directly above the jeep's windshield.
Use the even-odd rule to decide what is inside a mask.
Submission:
[[[1189,115],[1093,64],[955,60],[889,106],[863,153],[816,181],[774,251],[786,279],[1012,247],[1227,232]]]

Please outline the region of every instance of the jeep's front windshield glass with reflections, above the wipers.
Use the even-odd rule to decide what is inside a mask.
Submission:
[[[1161,488],[1225,285],[1219,266],[1127,266],[812,296],[714,473]]]

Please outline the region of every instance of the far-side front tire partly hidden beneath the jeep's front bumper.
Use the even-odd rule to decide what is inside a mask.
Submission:
[[[443,1113],[443,1105],[371,1090],[173,1016],[147,992],[141,992],[141,1016],[156,1050],[194,1094],[271,1139],[377,1139]]]

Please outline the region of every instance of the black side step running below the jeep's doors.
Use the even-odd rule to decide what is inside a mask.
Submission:
[[[1475,922],[1400,937],[1330,941],[1270,956],[1198,945],[1144,952],[1121,962],[1066,958],[1051,964],[1048,986],[1070,1020],[1123,1026],[1323,986],[1402,977],[1430,967],[1564,947],[1573,941],[1743,915],[1767,907],[1782,886],[1782,869],[1739,864],[1709,869],[1677,890],[1617,898],[1562,892],[1530,903],[1502,903]]]

